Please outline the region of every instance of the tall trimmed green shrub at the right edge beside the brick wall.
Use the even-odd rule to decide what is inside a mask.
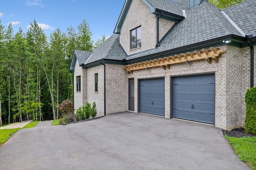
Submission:
[[[252,87],[246,91],[245,102],[244,128],[247,133],[256,135],[256,87]]]

